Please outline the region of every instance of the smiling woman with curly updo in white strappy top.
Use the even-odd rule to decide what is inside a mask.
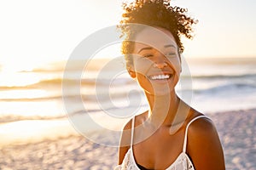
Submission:
[[[169,1],[124,4],[119,28],[126,69],[148,99],[149,110],[128,122],[116,169],[222,170],[224,153],[212,121],[179,99],[183,44],[195,20]]]

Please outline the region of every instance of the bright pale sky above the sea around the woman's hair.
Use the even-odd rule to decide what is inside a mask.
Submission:
[[[68,59],[84,38],[116,25],[121,0],[0,1],[0,65],[32,68]],[[255,0],[172,0],[199,23],[186,57],[256,57]]]

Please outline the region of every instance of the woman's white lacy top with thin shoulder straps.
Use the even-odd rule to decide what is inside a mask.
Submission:
[[[179,156],[177,156],[176,161],[174,161],[171,166],[167,167],[166,170],[195,170],[195,167],[193,166],[192,162],[190,161],[189,156],[186,154],[187,135],[188,135],[189,125],[201,117],[207,117],[207,116],[196,116],[194,119],[192,119],[188,123],[188,125],[186,127],[186,131],[185,131],[185,136],[184,136],[183,151],[179,154]],[[125,158],[124,158],[122,164],[116,166],[114,168],[114,170],[140,170],[140,168],[137,166],[137,163],[136,163],[134,155],[133,155],[133,150],[132,150],[133,131],[134,131],[134,118],[132,119],[132,125],[131,125],[130,149],[126,152]]]

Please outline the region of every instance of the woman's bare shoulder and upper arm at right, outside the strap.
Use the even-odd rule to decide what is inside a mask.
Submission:
[[[196,170],[224,170],[224,152],[212,121],[193,122],[188,133],[188,153]]]

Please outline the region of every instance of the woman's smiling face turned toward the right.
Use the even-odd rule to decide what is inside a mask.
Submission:
[[[148,94],[172,93],[179,80],[181,63],[170,31],[146,27],[135,37],[132,77]]]

